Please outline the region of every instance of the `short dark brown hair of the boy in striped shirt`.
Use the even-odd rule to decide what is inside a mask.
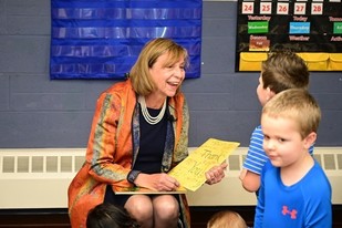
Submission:
[[[276,51],[268,54],[261,64],[263,89],[270,87],[276,94],[288,89],[308,89],[307,63],[291,51]]]

